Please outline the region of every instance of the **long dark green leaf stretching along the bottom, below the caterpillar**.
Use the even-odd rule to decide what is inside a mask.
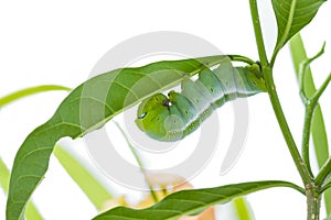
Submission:
[[[221,186],[216,188],[182,190],[167,196],[147,209],[118,207],[108,210],[94,220],[167,220],[200,211],[216,204],[226,202],[239,196],[271,187],[291,187],[305,195],[302,188],[288,182],[254,182]]]

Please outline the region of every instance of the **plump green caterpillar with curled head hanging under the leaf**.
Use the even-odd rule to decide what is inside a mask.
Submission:
[[[181,140],[226,101],[266,91],[257,64],[233,67],[231,62],[221,63],[214,70],[204,68],[195,81],[184,78],[181,87],[181,94],[157,94],[139,105],[136,123],[150,138]]]

